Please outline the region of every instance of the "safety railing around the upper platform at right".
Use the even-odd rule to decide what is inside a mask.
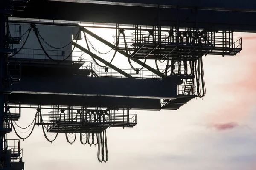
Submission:
[[[117,36],[113,36],[113,44],[116,42]],[[195,29],[174,30],[166,34],[160,33],[160,36],[158,36],[157,31],[154,31],[154,37],[148,32],[136,32],[127,36],[126,42],[130,51],[141,48],[144,44],[197,46],[202,47],[202,49],[203,47],[209,47],[209,50],[215,48],[218,50],[218,47],[233,48],[234,50],[242,48],[241,37],[233,37],[231,31],[216,33],[206,30],[196,31]],[[120,36],[119,49],[125,50],[124,47],[124,39]]]

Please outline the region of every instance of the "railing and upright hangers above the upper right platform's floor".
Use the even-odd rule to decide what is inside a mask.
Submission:
[[[119,37],[118,50],[137,51],[142,48],[146,55],[145,50],[150,48],[152,48],[152,50],[157,48],[157,51],[162,50],[162,52],[159,53],[162,54],[163,52],[166,52],[168,46],[183,46],[183,51],[188,50],[186,47],[195,47],[197,50],[207,50],[209,51],[209,54],[213,55],[233,55],[241,51],[242,48],[241,37],[234,37],[232,31],[218,32],[209,30],[196,30],[194,28],[173,30],[154,29],[152,31],[140,31],[140,29],[138,31],[138,28],[134,28],[134,31],[135,32],[132,33],[131,36],[126,36],[125,40],[123,36]],[[118,42],[117,39],[117,35],[113,36],[114,45]],[[126,46],[125,41],[127,44]],[[148,46],[150,44],[160,46]],[[163,48],[165,45],[166,49]],[[171,50],[173,50],[173,48],[171,48]],[[211,53],[212,50],[214,52]],[[198,55],[201,56],[204,54],[208,53],[198,53]]]

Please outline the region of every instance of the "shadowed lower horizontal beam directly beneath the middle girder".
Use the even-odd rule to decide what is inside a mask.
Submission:
[[[61,105],[132,108],[157,111],[161,109],[160,99],[12,93],[8,95],[8,100],[20,101],[21,105],[23,105],[23,108],[37,108],[37,105],[42,105],[44,108],[49,108],[45,106]]]

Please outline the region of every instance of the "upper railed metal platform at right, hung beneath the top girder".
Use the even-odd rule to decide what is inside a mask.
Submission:
[[[130,59],[194,61],[207,54],[233,56],[242,50],[241,37],[233,37],[232,31],[155,27],[149,33],[141,27],[135,27],[134,31],[125,39],[119,38],[118,50],[130,51]],[[113,44],[118,42],[117,37],[113,37]]]

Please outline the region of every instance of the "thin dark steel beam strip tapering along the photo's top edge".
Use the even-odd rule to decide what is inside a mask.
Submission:
[[[256,11],[255,0],[48,0],[58,2],[94,3],[116,6],[141,6],[154,8],[210,9],[222,11]]]

